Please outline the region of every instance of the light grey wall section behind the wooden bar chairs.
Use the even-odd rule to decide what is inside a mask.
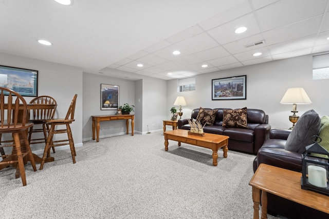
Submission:
[[[38,59],[0,53],[0,65],[39,71],[38,95],[49,95],[56,99],[54,117],[64,118],[75,94],[78,94],[75,122],[71,124],[76,146],[82,146],[82,69],[44,62]],[[33,97],[24,97],[29,103]],[[44,149],[44,145],[32,145],[33,151]]]

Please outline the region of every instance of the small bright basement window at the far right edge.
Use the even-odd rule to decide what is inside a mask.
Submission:
[[[329,53],[313,56],[313,79],[329,79]]]

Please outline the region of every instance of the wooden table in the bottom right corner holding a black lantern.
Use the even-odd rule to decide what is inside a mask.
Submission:
[[[261,164],[252,176],[253,218],[259,218],[260,191],[262,190],[262,215],[267,218],[267,192],[287,200],[329,213],[329,198],[326,195],[301,189],[299,172]]]

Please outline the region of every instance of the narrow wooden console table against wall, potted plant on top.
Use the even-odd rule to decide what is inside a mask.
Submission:
[[[132,135],[134,135],[134,115],[92,115],[93,121],[93,140],[95,140],[95,126],[96,126],[96,141],[99,142],[99,123],[102,121],[112,121],[112,120],[126,120],[126,130],[129,134],[129,120],[132,120]]]

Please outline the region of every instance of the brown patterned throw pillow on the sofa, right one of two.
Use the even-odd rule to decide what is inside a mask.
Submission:
[[[223,110],[223,127],[247,129],[247,107],[238,110]]]

